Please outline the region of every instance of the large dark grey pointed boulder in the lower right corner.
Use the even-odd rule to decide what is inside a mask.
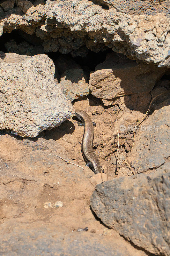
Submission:
[[[167,173],[166,173],[167,172]],[[102,222],[154,255],[170,255],[170,169],[97,185],[91,207]]]

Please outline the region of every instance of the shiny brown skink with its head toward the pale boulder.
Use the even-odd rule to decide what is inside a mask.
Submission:
[[[98,157],[93,151],[93,139],[94,139],[94,126],[90,116],[83,110],[75,109],[75,116],[82,122],[79,126],[84,126],[84,134],[82,139],[81,151],[86,161],[86,166],[89,166],[92,171],[97,174],[102,172]]]

